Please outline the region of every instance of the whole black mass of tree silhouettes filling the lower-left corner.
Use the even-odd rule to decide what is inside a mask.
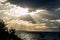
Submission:
[[[3,20],[0,19],[0,40],[21,40],[17,35],[15,35],[15,29],[11,29],[10,33],[5,27]]]

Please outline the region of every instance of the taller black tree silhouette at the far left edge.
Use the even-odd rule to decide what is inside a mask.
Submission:
[[[0,19],[0,40],[8,40],[9,33],[5,31],[4,27],[5,24],[3,20]]]

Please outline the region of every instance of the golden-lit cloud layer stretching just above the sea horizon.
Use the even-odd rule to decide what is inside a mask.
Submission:
[[[21,31],[59,31],[60,20],[47,20],[44,23],[33,24],[31,21],[10,20],[7,21],[9,29],[14,28]]]

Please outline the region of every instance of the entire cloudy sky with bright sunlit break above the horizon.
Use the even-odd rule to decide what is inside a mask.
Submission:
[[[0,18],[9,29],[59,31],[60,0],[0,0]]]

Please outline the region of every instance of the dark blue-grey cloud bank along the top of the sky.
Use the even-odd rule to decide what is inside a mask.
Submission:
[[[12,4],[31,8],[57,8],[60,0],[8,0]]]

